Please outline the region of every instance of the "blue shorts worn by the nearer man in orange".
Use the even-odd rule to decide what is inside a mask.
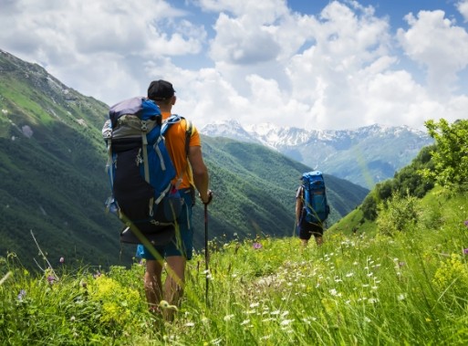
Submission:
[[[175,227],[175,239],[165,246],[155,246],[154,249],[158,254],[165,257],[183,256],[187,260],[192,259],[193,252],[193,227],[192,227],[192,190],[182,189],[181,194],[184,200],[182,205],[181,215],[177,220]],[[151,251],[139,244],[137,246],[137,258],[156,259]]]

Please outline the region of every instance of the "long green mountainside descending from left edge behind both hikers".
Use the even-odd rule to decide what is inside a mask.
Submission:
[[[120,221],[104,213],[109,183],[100,130],[108,110],[44,68],[0,50],[0,256],[14,252],[32,263],[32,232],[52,258],[130,263],[134,246],[120,245]],[[214,191],[210,239],[293,234],[298,178],[310,168],[261,145],[220,138],[203,137],[203,152]],[[331,175],[326,182],[330,224],[369,192]],[[202,204],[193,215],[200,249]]]

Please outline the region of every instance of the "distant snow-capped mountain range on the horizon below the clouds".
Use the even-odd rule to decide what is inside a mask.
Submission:
[[[374,124],[356,130],[320,131],[278,127],[271,123],[242,126],[238,121],[216,121],[201,132],[265,145],[324,173],[371,189],[392,178],[420,152],[432,144],[423,131],[407,126]]]

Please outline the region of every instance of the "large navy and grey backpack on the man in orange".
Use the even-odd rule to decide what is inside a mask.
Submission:
[[[181,120],[182,117],[172,115],[162,121],[158,105],[146,98],[123,100],[109,109],[109,120],[102,129],[109,153],[106,168],[112,191],[106,204],[126,225],[120,233],[122,242],[144,243],[140,239],[143,235],[152,245],[161,246],[175,234],[183,199],[178,186],[171,183],[176,172],[164,134]],[[187,124],[190,140],[192,125],[189,121]]]

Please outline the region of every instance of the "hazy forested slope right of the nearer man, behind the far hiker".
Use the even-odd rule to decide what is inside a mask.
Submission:
[[[203,136],[203,152],[211,170],[213,204],[210,228],[218,236],[293,236],[296,189],[302,163],[260,144]],[[368,190],[324,174],[332,212],[329,225],[360,204]],[[195,218],[202,216],[201,205]],[[197,209],[195,209],[197,210]],[[265,215],[267,215],[265,217]],[[198,225],[201,225],[201,217]]]

